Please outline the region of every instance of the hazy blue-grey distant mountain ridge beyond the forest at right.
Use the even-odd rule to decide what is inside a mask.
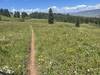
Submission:
[[[100,9],[81,11],[77,13],[72,13],[72,15],[85,17],[100,17]]]

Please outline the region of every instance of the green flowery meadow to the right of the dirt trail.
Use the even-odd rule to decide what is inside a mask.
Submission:
[[[100,28],[33,25],[39,75],[100,75]]]

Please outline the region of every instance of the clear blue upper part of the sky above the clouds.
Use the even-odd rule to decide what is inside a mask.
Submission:
[[[76,5],[95,5],[100,0],[0,0],[3,8],[47,8],[50,6],[64,7]]]

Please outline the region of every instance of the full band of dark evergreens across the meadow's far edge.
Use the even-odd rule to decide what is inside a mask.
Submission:
[[[51,14],[49,14],[51,13]],[[82,17],[82,16],[73,16],[70,14],[61,14],[61,13],[53,13],[52,9],[49,9],[49,13],[43,13],[43,12],[32,12],[28,14],[27,12],[19,12],[15,11],[14,13],[10,12],[8,9],[0,9],[0,15],[7,16],[7,17],[15,17],[15,18],[36,18],[36,19],[49,19],[51,15],[51,18],[59,21],[59,22],[70,22],[70,23],[76,23],[78,20],[80,23],[95,23],[100,24],[100,18],[96,17]]]

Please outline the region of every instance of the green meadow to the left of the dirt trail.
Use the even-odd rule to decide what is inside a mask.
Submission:
[[[25,73],[30,28],[21,22],[0,22],[0,70],[14,75]]]

